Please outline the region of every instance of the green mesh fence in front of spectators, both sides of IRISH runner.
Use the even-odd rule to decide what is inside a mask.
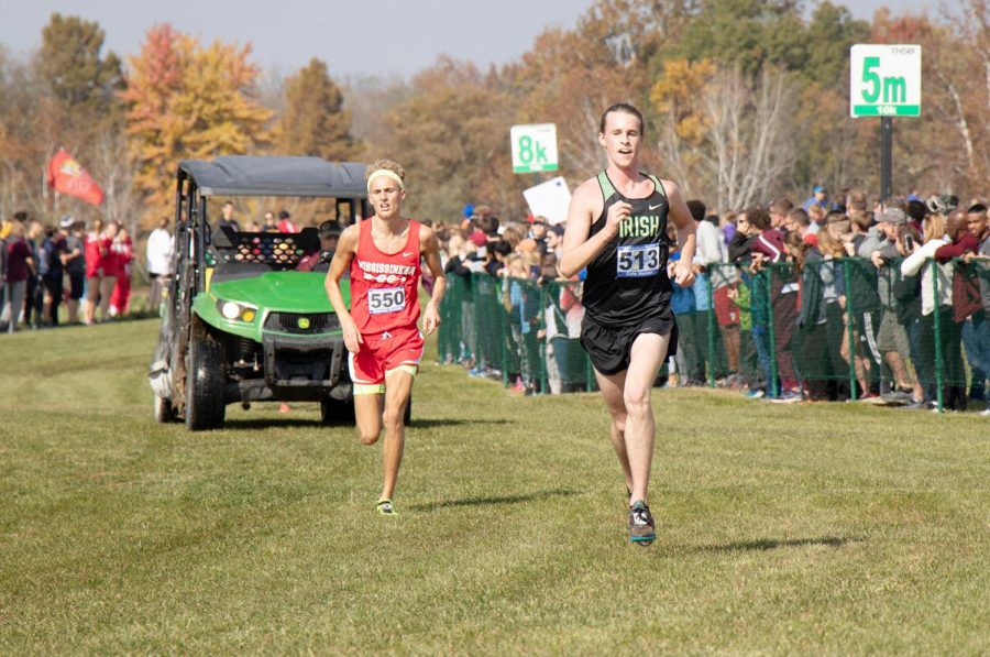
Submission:
[[[939,408],[965,407],[974,388],[986,390],[986,259],[928,262],[914,276],[900,261],[876,267],[859,258],[711,265],[692,288],[675,287],[672,305],[682,384],[771,397],[924,397]],[[595,388],[580,343],[581,283],[452,275],[441,314],[444,362],[532,392]]]

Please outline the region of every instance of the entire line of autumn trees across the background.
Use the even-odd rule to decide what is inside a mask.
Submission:
[[[481,70],[442,56],[409,80],[333,80],[312,58],[282,78],[250,44],[200,43],[168,24],[140,52],[105,52],[100,25],[55,13],[28,57],[0,50],[0,213],[84,213],[42,184],[64,146],[133,228],[170,213],[180,158],[389,156],[410,172],[410,211],[452,219],[466,202],[525,213],[512,173],[514,123],[558,127],[573,186],[602,166],[596,132],[617,100],[644,109],[646,165],[691,196],[737,209],[780,195],[879,187],[879,120],[849,118],[849,47],[922,46],[922,117],[895,121],[894,186],[985,195],[990,179],[990,8],[857,20],[824,1],[597,0],[516,61]]]

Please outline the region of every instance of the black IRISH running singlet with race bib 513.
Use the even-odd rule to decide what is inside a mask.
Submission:
[[[653,193],[646,198],[626,198],[605,172],[598,174],[605,207],[592,223],[588,237],[605,228],[609,207],[619,201],[632,206],[629,217],[619,225],[618,234],[587,265],[582,303],[587,314],[604,326],[628,326],[670,303],[672,287],[667,275],[670,205],[659,178],[644,175],[653,182]]]

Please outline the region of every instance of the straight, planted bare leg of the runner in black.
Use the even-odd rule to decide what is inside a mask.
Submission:
[[[647,490],[650,482],[650,466],[652,464],[656,438],[650,392],[660,365],[667,358],[669,344],[669,333],[666,336],[641,333],[632,341],[629,354],[629,369],[626,371],[623,402],[627,414],[626,451],[629,455],[629,467],[632,473],[630,502],[642,500],[649,504]]]

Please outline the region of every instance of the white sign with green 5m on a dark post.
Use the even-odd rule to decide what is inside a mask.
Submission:
[[[858,43],[849,53],[849,114],[921,116],[921,46]]]

